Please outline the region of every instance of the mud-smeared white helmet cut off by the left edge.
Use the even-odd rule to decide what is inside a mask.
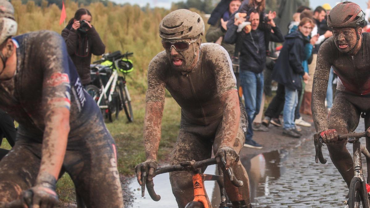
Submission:
[[[0,0],[0,44],[17,33],[18,24],[14,19],[14,8],[9,1]]]

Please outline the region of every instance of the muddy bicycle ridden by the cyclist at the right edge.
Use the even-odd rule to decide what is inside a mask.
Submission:
[[[367,148],[360,143],[359,138],[361,137],[369,137],[366,134],[366,131],[361,133],[350,132],[348,134],[338,135],[338,141],[347,140],[350,144],[353,144],[353,169],[354,169],[354,177],[351,180],[349,193],[348,193],[348,201],[347,205],[349,208],[358,208],[365,207],[370,208],[370,201],[366,191],[366,182],[362,171],[362,159],[361,153],[365,155],[366,158],[366,167],[367,167],[367,183],[370,182],[370,153]],[[322,164],[326,163],[326,159],[324,159],[322,154],[322,145],[323,140],[319,133],[315,133],[314,136],[314,145],[315,145],[315,162],[318,163],[319,160]]]

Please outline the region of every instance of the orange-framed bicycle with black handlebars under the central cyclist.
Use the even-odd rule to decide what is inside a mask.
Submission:
[[[225,160],[222,160],[223,164],[226,164]],[[215,165],[217,164],[215,158],[206,159],[202,161],[185,161],[181,162],[178,165],[171,165],[168,167],[163,168],[157,168],[157,170],[154,171],[154,176],[166,173],[166,172],[174,172],[174,171],[189,171],[192,172],[193,176],[193,188],[194,188],[194,199],[193,201],[190,201],[185,208],[212,208],[211,202],[209,201],[206,190],[204,187],[204,181],[217,181],[218,186],[220,188],[221,193],[221,203],[219,208],[227,208],[227,207],[233,207],[233,205],[229,202],[229,198],[226,194],[224,185],[223,185],[223,171],[221,168],[218,168],[219,175],[209,175],[209,174],[203,174],[201,172],[202,167],[207,167],[208,165]],[[229,168],[227,171],[228,176],[231,180],[231,182],[236,187],[241,187],[243,185],[243,181],[237,180],[235,178],[235,175],[233,173],[232,168]],[[147,181],[147,176],[143,175],[142,181]],[[144,197],[145,193],[145,185],[147,186],[148,193],[150,197],[154,201],[159,201],[161,199],[161,196],[157,195],[154,191],[154,183],[146,182],[142,183],[141,185],[141,196]]]

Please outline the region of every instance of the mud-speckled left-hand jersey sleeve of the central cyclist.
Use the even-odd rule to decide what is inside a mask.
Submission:
[[[155,56],[148,67],[148,89],[146,94],[146,103],[164,103],[166,84],[164,82],[165,63],[168,58],[164,52]]]

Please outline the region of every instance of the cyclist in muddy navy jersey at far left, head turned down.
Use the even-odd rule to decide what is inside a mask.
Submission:
[[[113,138],[63,38],[46,30],[11,38],[16,30],[13,6],[0,0],[0,108],[19,123],[0,161],[0,207],[15,199],[54,207],[62,168],[87,207],[123,207]]]

